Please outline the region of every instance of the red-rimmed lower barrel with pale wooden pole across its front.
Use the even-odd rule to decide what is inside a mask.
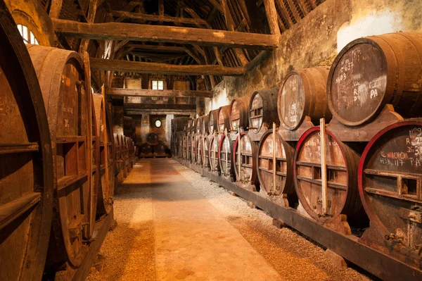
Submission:
[[[328,207],[324,214],[319,130],[319,127],[307,130],[296,146],[293,160],[296,194],[309,216],[320,223],[331,223],[340,214],[353,219],[362,208],[356,182],[359,155],[326,131]]]

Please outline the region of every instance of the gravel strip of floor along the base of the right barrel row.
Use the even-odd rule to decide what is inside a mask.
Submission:
[[[320,246],[288,227],[274,227],[267,213],[248,207],[217,183],[177,161],[174,166],[286,280],[371,280],[352,268],[334,266]]]

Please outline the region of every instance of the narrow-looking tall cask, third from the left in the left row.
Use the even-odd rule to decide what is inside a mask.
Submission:
[[[97,135],[100,149],[101,182],[98,187],[97,214],[110,213],[113,208],[115,187],[115,145],[113,124],[108,106],[103,104],[101,94],[92,94],[94,101]]]

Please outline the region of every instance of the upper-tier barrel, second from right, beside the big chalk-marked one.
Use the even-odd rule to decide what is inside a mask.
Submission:
[[[331,120],[326,99],[328,66],[290,71],[279,91],[280,124],[287,130],[296,130],[309,116],[315,125],[319,119]]]

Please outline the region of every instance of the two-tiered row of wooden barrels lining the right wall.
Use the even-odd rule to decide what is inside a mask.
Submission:
[[[422,120],[404,118],[422,116],[421,58],[421,33],[354,40],[331,68],[210,111],[207,129],[184,120],[175,155],[337,232],[367,227],[359,241],[418,267]]]

